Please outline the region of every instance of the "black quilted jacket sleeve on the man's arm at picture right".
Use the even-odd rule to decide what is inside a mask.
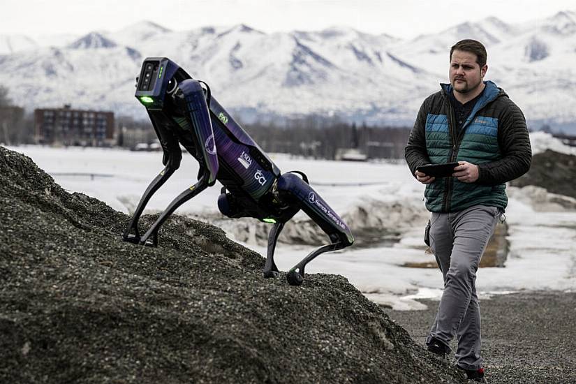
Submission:
[[[515,103],[507,99],[498,142],[503,157],[497,161],[478,165],[478,183],[498,185],[524,175],[530,169],[532,149],[524,114]]]

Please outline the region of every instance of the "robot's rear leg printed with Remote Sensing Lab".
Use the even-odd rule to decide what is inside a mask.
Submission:
[[[331,244],[320,246],[309,253],[300,263],[290,269],[287,276],[288,283],[293,286],[300,286],[304,281],[304,268],[311,260],[322,253],[352,245],[354,237],[346,223],[300,177],[293,173],[281,175],[277,182],[277,189],[283,200],[286,199],[300,205],[302,210],[326,232],[331,241]]]

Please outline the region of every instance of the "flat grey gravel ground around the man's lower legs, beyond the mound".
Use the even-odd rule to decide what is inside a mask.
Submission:
[[[438,307],[422,302],[426,311],[385,309],[420,345]],[[480,307],[488,383],[576,383],[576,293],[496,295]]]

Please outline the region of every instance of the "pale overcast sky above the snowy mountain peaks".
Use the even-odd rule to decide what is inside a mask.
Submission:
[[[265,32],[348,26],[413,38],[487,16],[524,22],[575,0],[0,0],[0,34],[115,31],[141,20],[174,30],[244,23]]]

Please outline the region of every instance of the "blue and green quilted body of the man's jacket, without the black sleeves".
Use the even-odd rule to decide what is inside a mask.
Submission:
[[[500,89],[494,82],[485,82],[485,90],[476,102],[470,116],[464,123],[458,137],[453,139],[450,127],[454,112],[448,99],[450,84],[443,87],[443,105],[434,113],[434,108],[426,118],[426,148],[431,163],[468,161],[480,164],[501,158],[498,144],[499,121],[490,116],[494,108],[487,108],[499,97]],[[434,106],[433,106],[434,107]],[[452,118],[448,117],[451,115]],[[427,184],[424,191],[426,207],[431,212],[457,212],[472,205],[488,205],[504,209],[508,205],[505,184],[485,186],[477,183],[463,183],[455,177],[436,179]]]

